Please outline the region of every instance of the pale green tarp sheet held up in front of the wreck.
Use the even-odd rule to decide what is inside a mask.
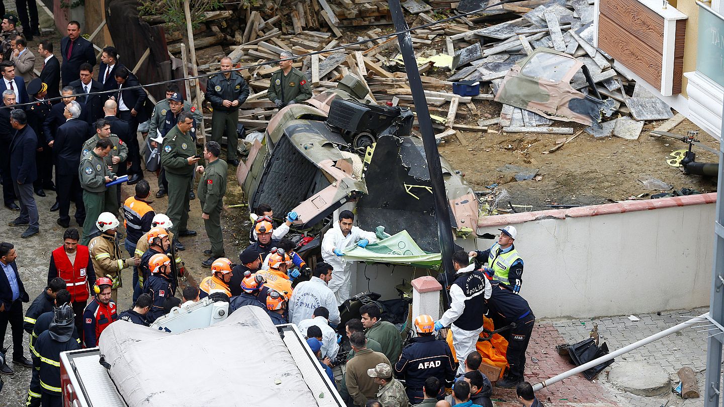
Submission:
[[[354,246],[344,251],[345,260],[369,263],[408,264],[428,269],[439,267],[440,253],[427,253],[410,236],[407,230],[395,233],[389,238],[370,243],[366,248]]]

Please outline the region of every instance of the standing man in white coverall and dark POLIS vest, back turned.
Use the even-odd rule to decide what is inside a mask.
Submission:
[[[465,373],[463,361],[476,350],[478,337],[483,331],[483,315],[488,308],[485,300],[492,294],[492,285],[485,274],[468,265],[468,253],[456,251],[452,255],[455,281],[450,285],[450,309],[435,322],[435,330],[450,327],[452,348],[458,358],[458,374]]]

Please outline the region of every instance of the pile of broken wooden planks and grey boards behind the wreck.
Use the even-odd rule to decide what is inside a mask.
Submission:
[[[626,72],[617,69],[610,56],[593,45],[594,8],[588,0],[518,1],[486,9],[484,14],[439,23],[439,14],[434,14],[445,9],[454,15],[479,9],[486,3],[480,0],[403,1],[411,27],[430,24],[413,31],[411,39],[418,70],[424,75],[427,104],[439,140],[455,135],[464,143],[464,136],[458,130],[572,135],[574,129],[570,122],[556,126],[553,120],[571,121],[570,118],[544,117],[540,112],[505,103],[500,117],[473,121],[479,118],[473,101],[497,100],[497,91],[510,69],[536,49],[553,49],[570,55],[584,67],[573,75],[570,87],[605,102],[601,107],[600,126],[586,128],[586,132],[595,137],[638,138],[644,120],[673,116],[666,104],[643,86],[636,85]],[[228,9],[231,7],[234,9]],[[457,7],[457,11],[450,7]],[[392,26],[372,27],[390,24],[386,2],[284,0],[277,4],[266,1],[252,9],[227,6],[226,10],[208,12],[205,17],[195,30],[201,73],[218,70],[219,58],[226,54],[237,67],[245,67],[277,59],[281,51],[294,54],[323,51],[304,56],[294,65],[306,72],[316,93],[335,88],[337,81],[352,74],[366,85],[369,101],[414,109],[397,38],[379,38],[383,33],[391,33]],[[150,23],[162,22],[158,16],[143,18]],[[356,27],[356,38],[346,35],[348,31],[342,32],[352,26]],[[369,30],[360,26],[369,26]],[[347,41],[342,42],[342,35]],[[167,33],[168,49],[174,56],[180,56],[182,36]],[[334,50],[355,39],[369,41]],[[327,49],[330,51],[324,52]],[[240,70],[252,90],[246,109],[240,112],[240,121],[249,130],[264,129],[277,111],[266,99],[269,78],[277,69],[276,64],[267,64]],[[584,75],[586,70],[590,81]],[[466,96],[455,94],[455,83],[474,84],[479,92]],[[465,109],[460,109],[463,106]]]

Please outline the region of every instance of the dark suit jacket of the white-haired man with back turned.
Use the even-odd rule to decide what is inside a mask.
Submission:
[[[77,175],[85,140],[88,140],[88,123],[81,119],[68,120],[58,127],[53,144],[56,174]]]

